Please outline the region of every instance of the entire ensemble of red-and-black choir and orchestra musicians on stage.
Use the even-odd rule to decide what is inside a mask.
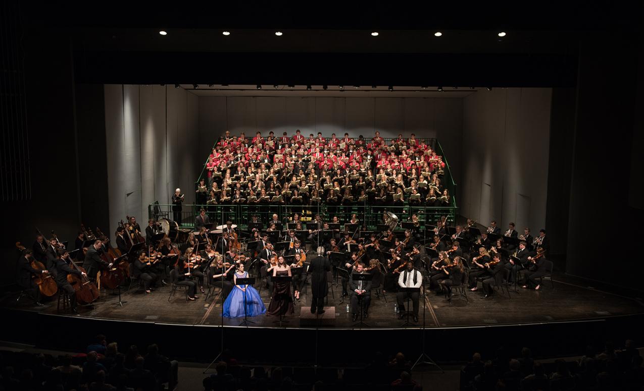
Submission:
[[[485,297],[491,297],[493,286],[503,282],[501,272],[509,270],[507,282],[515,282],[518,272],[524,271],[523,286],[540,289],[538,278],[544,275],[549,250],[545,230],[533,237],[529,228],[519,235],[514,223],[505,232],[496,221],[487,228],[472,219],[454,224],[454,216],[445,209],[430,217],[408,208],[401,226],[397,217],[392,219],[388,206],[453,206],[450,191],[442,184],[445,168],[442,156],[413,134],[390,143],[378,132],[371,140],[346,133],[343,138],[335,134],[324,138],[321,133],[307,138],[297,131],[292,137],[284,133],[279,138],[264,138],[257,132],[249,141],[243,134],[227,134],[216,143],[205,163],[205,177],[198,181],[193,232],[183,239],[171,238],[162,220],[150,218],[142,231],[135,217],[126,216],[114,232],[116,247],[111,248],[109,237],[97,239],[81,226],[76,238],[79,253],[74,258],[84,261],[86,272],[74,267],[55,235],[46,239],[39,233],[32,250],[22,253],[21,286],[40,304],[41,291],[32,279],[51,275],[62,291],[72,295],[75,288],[66,283],[68,276],[99,282],[97,276],[120,266],[113,262],[121,257],[129,265],[123,280],[133,278],[151,294],[157,284],[165,285],[172,277],[173,285],[185,287],[188,301],[199,298],[198,289],[205,293],[219,287],[223,303],[233,292],[236,278],[251,275],[257,279],[258,295],[261,287],[267,287],[272,297],[267,313],[283,316],[302,300],[309,266],[317,259],[316,273],[331,271],[328,278],[334,281],[340,275],[341,296],[349,296],[353,320],[360,312],[358,306],[368,317],[373,284],[383,293],[395,294],[403,311],[409,298],[413,322],[418,322],[419,294],[399,291],[401,287],[426,287],[451,300],[453,286],[467,281],[469,290],[477,291],[481,281]],[[180,188],[171,199],[173,218],[181,224],[184,194]],[[374,208],[377,215],[356,213],[354,206],[366,204],[379,208]],[[212,213],[213,208],[236,205],[258,207],[244,217]],[[280,216],[271,205],[298,208]],[[324,209],[312,214],[307,207],[313,205]],[[430,218],[434,226],[428,225]],[[380,224],[369,230],[367,221],[370,227]],[[118,253],[111,259],[104,257],[110,251]],[[33,260],[42,262],[41,268],[34,268]],[[373,280],[354,277],[363,273],[373,275]],[[273,277],[282,276],[292,280],[273,282]],[[326,279],[326,274],[316,277],[325,286],[316,287],[312,313],[324,313],[317,298],[326,295]],[[76,301],[72,309],[77,311]],[[402,311],[397,316],[402,318]]]

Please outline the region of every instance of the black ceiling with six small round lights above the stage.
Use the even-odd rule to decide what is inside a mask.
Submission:
[[[580,40],[641,28],[640,2],[483,3],[21,3],[21,12],[25,28],[71,40],[77,82],[133,84],[574,86]]]

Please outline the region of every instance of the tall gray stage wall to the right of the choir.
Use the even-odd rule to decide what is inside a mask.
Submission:
[[[507,88],[464,98],[460,213],[502,232],[545,227],[551,89]],[[567,202],[566,200],[562,200]]]

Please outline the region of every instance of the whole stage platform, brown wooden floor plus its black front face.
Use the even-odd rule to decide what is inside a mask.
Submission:
[[[286,316],[281,325],[276,322],[278,318],[269,316],[249,318],[255,323],[247,326],[239,326],[243,318],[224,318],[223,346],[243,349],[244,353],[238,356],[259,361],[266,359],[267,343],[274,340],[288,343],[288,349],[270,349],[275,359],[283,356],[286,361],[328,360],[352,340],[371,341],[365,349],[376,351],[389,346],[396,349],[395,343],[410,338],[413,349],[420,352],[424,327],[426,350],[437,360],[467,358],[473,350],[495,349],[500,343],[530,345],[537,354],[540,350],[547,354],[570,354],[583,349],[588,338],[603,342],[614,332],[620,335],[639,332],[644,319],[644,305],[638,298],[594,289],[557,273],[554,289],[549,280],[544,280],[540,291],[518,287],[516,293],[513,286],[510,289],[511,298],[499,291],[493,298],[485,299],[480,291],[468,291],[469,302],[454,295],[451,303],[428,291],[419,322],[410,327],[403,327],[406,318],[397,319],[395,295],[377,298],[373,294],[369,316],[363,320],[367,326],[361,328],[354,326],[351,314],[346,312],[346,302],[340,303],[338,285],[333,288],[335,298],[328,296],[328,306],[334,307],[335,313],[327,309],[319,323],[310,319],[310,295],[303,293],[301,300],[296,301],[295,313]],[[169,291],[169,286],[160,287],[148,295],[133,287],[122,293],[122,300],[126,301],[122,307],[115,305],[118,295],[102,292],[93,306],[79,307],[79,315],[57,314],[56,300],[46,302],[47,307],[42,309],[34,308],[27,298],[17,302],[15,293],[3,296],[1,305],[5,316],[15,319],[17,327],[12,338],[21,342],[61,349],[83,347],[97,333],[115,339],[114,334],[118,334],[121,344],[157,342],[168,354],[189,354],[190,358],[204,361],[214,358],[222,338],[221,297],[216,295],[205,301],[205,295],[200,295],[194,302],[185,302],[184,295],[178,292],[168,302]],[[261,297],[268,307],[266,289],[261,289]],[[309,311],[309,319],[303,320],[303,324],[300,311]],[[410,322],[413,323],[411,317]],[[348,334],[353,331],[360,334]],[[315,340],[317,354],[313,349]],[[187,352],[185,343],[195,349]]]

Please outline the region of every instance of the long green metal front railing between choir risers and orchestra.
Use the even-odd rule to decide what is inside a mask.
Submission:
[[[257,215],[264,224],[266,224],[273,214],[278,215],[279,221],[289,223],[292,221],[294,214],[301,216],[301,221],[307,223],[313,221],[316,214],[319,214],[323,221],[331,221],[333,217],[338,217],[339,221],[344,224],[351,219],[352,214],[356,214],[361,224],[366,223],[367,230],[376,230],[377,225],[381,223],[384,212],[392,212],[400,222],[411,221],[412,215],[419,217],[421,228],[427,225],[433,225],[440,216],[446,215],[450,223],[455,222],[458,208],[455,206],[445,207],[428,207],[428,206],[375,206],[375,205],[352,205],[352,206],[307,206],[307,205],[280,205],[280,204],[263,204],[263,205],[184,205],[182,212],[173,212],[172,205],[150,204],[147,206],[149,219],[166,218],[176,221],[175,214],[180,216],[180,226],[183,228],[194,228],[194,218],[204,208],[214,225],[222,225],[227,220],[237,224],[242,230],[247,230],[248,223],[252,215]],[[178,223],[178,221],[177,221]],[[400,225],[399,225],[400,226]],[[303,227],[306,228],[306,227]]]

